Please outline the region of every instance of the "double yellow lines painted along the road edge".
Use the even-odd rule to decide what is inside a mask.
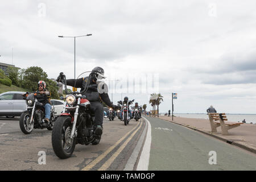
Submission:
[[[139,127],[137,128],[137,126],[139,125]],[[123,148],[125,148],[125,146],[127,145],[127,143],[130,142],[130,140],[133,138],[133,136],[137,133],[137,131],[142,127],[142,121],[138,122],[138,124],[128,133],[126,133],[121,139],[119,139],[113,146],[109,147],[108,150],[106,150],[103,154],[99,155],[95,160],[93,160],[92,162],[90,162],[85,168],[82,169],[82,171],[89,171],[90,169],[92,169],[94,166],[96,166],[96,164],[98,164],[102,159],[104,159],[106,157],[106,155],[108,155],[116,146],[118,146],[119,143],[121,143],[123,141],[123,139],[125,139],[130,133],[133,132],[133,134],[131,134],[131,136],[129,138],[127,138],[127,140],[122,144],[122,146],[120,146],[118,148],[118,150],[111,156],[111,158],[109,158],[102,166],[101,168],[99,168],[98,170],[106,170],[109,168],[109,166],[113,163],[113,161],[115,160],[115,158],[117,158],[117,156],[122,152]],[[137,128],[137,129],[136,129]],[[135,130],[136,129],[136,130]]]

